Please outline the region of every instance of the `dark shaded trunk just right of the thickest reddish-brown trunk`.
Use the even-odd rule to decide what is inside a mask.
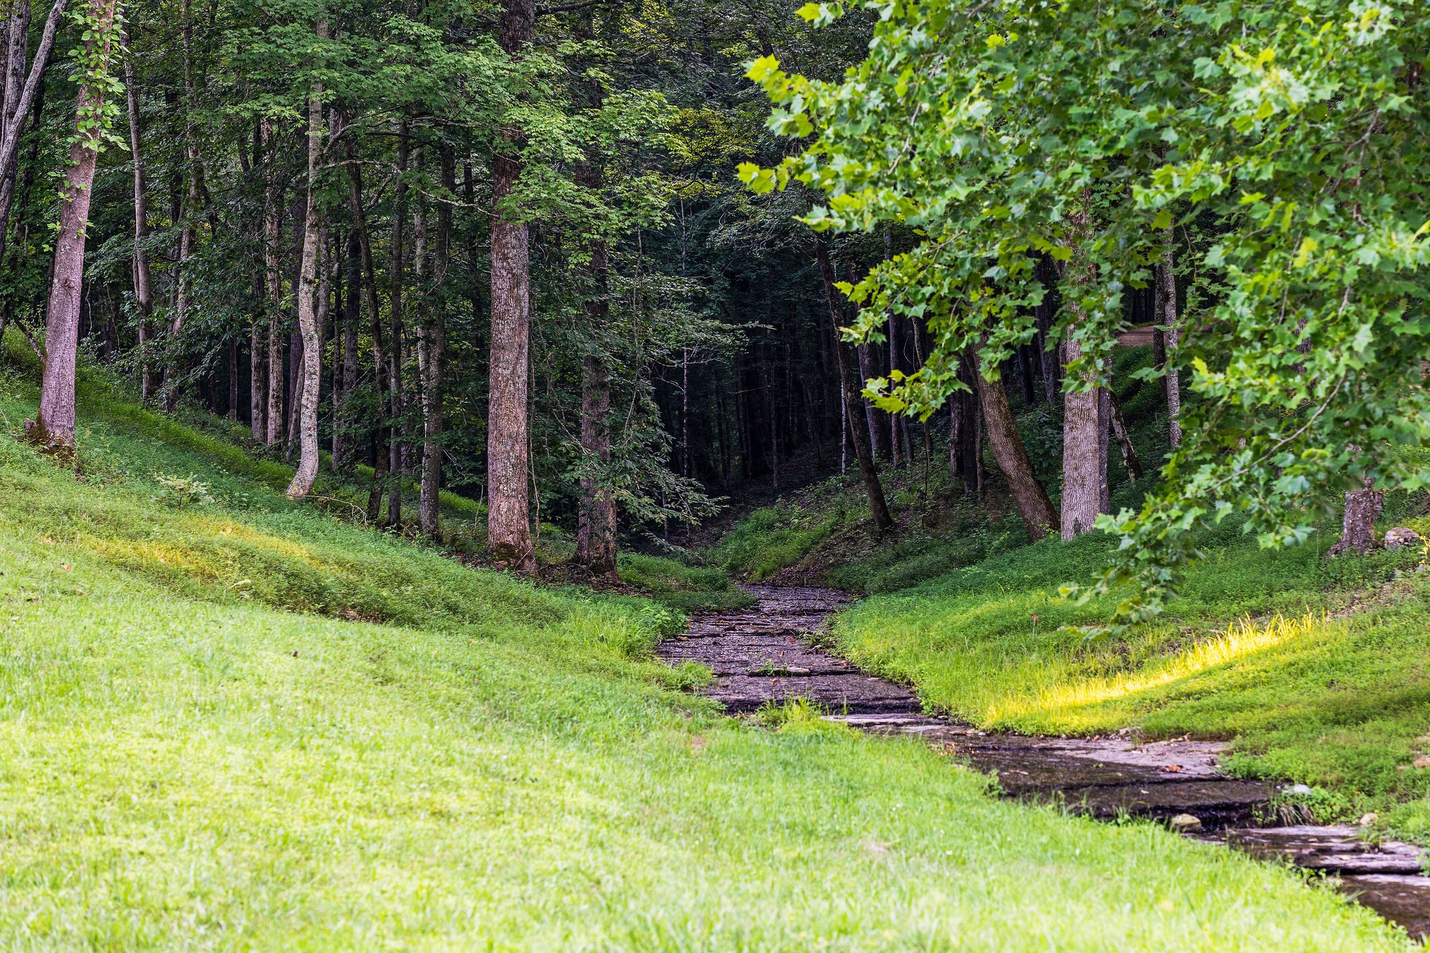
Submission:
[[[599,103],[598,103],[599,104]],[[603,186],[595,160],[576,166],[576,184],[598,190]],[[581,451],[599,467],[611,463],[611,371],[602,353],[601,334],[609,320],[606,244],[592,239],[586,244],[588,346],[581,359]],[[616,574],[616,507],[603,479],[582,477],[576,510],[576,563],[593,576],[621,582]]]

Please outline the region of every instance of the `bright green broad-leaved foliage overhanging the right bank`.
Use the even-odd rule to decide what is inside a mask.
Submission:
[[[844,7],[802,13],[832,23]],[[1194,323],[1181,316],[1165,370],[1193,371],[1181,446],[1138,512],[1098,517],[1121,540],[1117,562],[1070,592],[1133,583],[1115,622],[1148,619],[1211,520],[1238,513],[1263,546],[1297,544],[1327,487],[1430,482],[1396,450],[1430,437],[1430,201],[1409,171],[1430,159],[1430,116],[1406,91],[1420,89],[1430,41],[1417,9],[934,0],[885,13],[842,80],[754,63],[776,106],[769,127],[804,141],[775,167],[742,167],[756,190],[821,189],[817,229],[918,229],[914,249],[854,289],[865,316],[892,309],[937,329],[885,406],[928,411],[967,346],[991,364],[1032,340],[1045,294],[1034,263],[1074,251],[1095,283],[1048,331],[1075,356],[1067,396],[1105,386],[1124,291],[1155,277],[1168,229],[1216,223],[1187,254],[1221,283]],[[1157,70],[1123,69],[1150,49]],[[1098,214],[1084,231],[1088,194]]]

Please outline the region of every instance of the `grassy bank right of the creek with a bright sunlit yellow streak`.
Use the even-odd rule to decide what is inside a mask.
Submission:
[[[1430,532],[1424,517],[1397,522]],[[1203,549],[1167,619],[1121,637],[1061,630],[1110,612],[1057,594],[1111,557],[1090,534],[872,597],[835,639],[981,726],[1233,739],[1233,770],[1316,787],[1301,800],[1323,820],[1376,810],[1391,829],[1430,834],[1430,770],[1413,767],[1430,753],[1424,553],[1327,562],[1314,543],[1258,550],[1234,526]]]

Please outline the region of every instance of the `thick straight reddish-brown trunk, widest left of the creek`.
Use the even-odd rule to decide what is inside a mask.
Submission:
[[[535,37],[532,0],[502,0],[498,41],[519,56]],[[486,547],[518,572],[536,569],[528,461],[531,249],[525,221],[505,207],[522,174],[521,133],[503,129],[492,154],[492,353],[486,427]]]

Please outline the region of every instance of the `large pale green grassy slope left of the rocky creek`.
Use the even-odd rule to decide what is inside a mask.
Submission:
[[[31,399],[0,367],[11,420]],[[1404,944],[912,742],[719,719],[646,660],[666,610],[293,507],[129,411],[86,424],[110,456],[83,482],[0,436],[6,947]]]

